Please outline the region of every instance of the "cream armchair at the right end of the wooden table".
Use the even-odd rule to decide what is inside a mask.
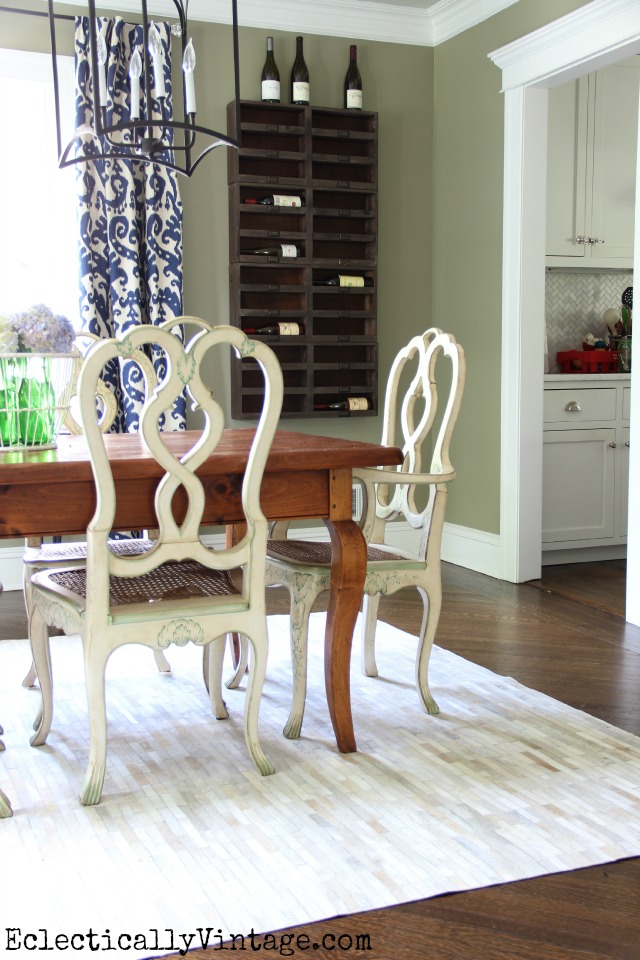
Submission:
[[[438,712],[427,675],[442,603],[440,549],[447,486],[455,476],[449,444],[464,381],[464,353],[452,336],[431,328],[414,337],[400,350],[389,373],[381,441],[402,447],[404,463],[397,469],[354,470],[354,479],[363,486],[361,527],[368,545],[362,670],[370,677],[378,675],[375,630],[380,596],[403,587],[417,587],[424,615],[416,654],[416,684],[427,713]],[[429,464],[426,472],[423,462]],[[419,531],[415,554],[385,544],[385,533],[397,518]],[[300,736],[306,698],[309,614],[319,594],[329,589],[331,547],[328,543],[286,539],[286,524],[276,524],[272,536],[278,539],[270,539],[267,547],[267,584],[284,584],[291,594],[293,699],[284,733],[295,738]],[[227,685],[238,682],[236,672]]]

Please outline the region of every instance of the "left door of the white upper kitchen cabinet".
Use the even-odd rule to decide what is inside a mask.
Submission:
[[[585,255],[588,78],[549,90],[547,256]]]

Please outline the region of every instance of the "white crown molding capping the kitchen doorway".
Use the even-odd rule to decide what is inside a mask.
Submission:
[[[590,54],[595,39],[600,51],[597,62]],[[638,0],[593,0],[521,40],[494,50],[489,59],[502,70],[505,91],[533,82],[543,86],[545,77],[551,79],[558,73],[568,80],[570,70],[580,74],[587,60],[590,69],[595,70],[608,58],[615,58],[618,49],[634,41],[640,51]]]

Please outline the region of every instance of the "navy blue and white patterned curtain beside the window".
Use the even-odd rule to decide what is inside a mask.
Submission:
[[[98,27],[103,31],[108,21]],[[171,116],[170,27],[156,22],[164,51],[167,92],[165,113]],[[128,120],[129,63],[142,51],[142,26],[111,21],[108,50],[108,119]],[[76,18],[76,127],[91,125],[89,20]],[[144,85],[141,83],[144,98]],[[142,106],[144,107],[144,99]],[[153,104],[154,117],[160,105]],[[98,152],[95,138],[83,140],[87,155]],[[142,323],[159,324],[179,317],[182,309],[182,202],[177,174],[158,164],[129,159],[96,160],[78,166],[80,206],[80,310],[82,329],[102,337],[118,336]],[[164,358],[152,357],[158,377]],[[118,400],[113,430],[136,431],[143,392],[135,363],[112,365],[106,379]],[[167,413],[163,429],[183,430],[186,399]]]

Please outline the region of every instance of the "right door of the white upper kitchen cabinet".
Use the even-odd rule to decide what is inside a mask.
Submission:
[[[633,257],[639,60],[632,57],[596,74],[590,221],[591,235],[604,243],[590,245],[593,260]]]

